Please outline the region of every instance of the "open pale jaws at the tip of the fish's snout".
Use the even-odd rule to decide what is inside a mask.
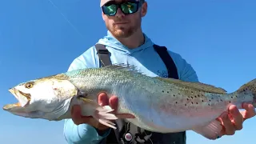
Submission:
[[[23,93],[22,91],[17,90],[15,88],[11,88],[9,90],[9,92],[11,94],[13,94],[15,98],[17,98],[18,102],[4,106],[3,107],[4,110],[10,110],[12,108],[24,107],[29,104],[30,99],[31,99],[30,94]]]

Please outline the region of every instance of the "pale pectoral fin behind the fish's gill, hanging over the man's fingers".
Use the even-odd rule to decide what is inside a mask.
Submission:
[[[91,114],[91,116],[93,116],[98,122],[116,129],[114,122],[111,122],[110,120],[116,120],[118,117],[116,117],[115,114],[110,114],[110,112],[113,111],[110,106],[100,106],[97,102],[87,98],[79,97],[78,99],[82,100],[86,107],[90,106],[90,109],[94,110],[94,113]]]

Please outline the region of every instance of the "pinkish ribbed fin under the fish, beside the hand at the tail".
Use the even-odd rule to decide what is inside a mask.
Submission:
[[[221,122],[214,120],[213,122],[210,122],[209,125],[196,127],[193,130],[194,132],[201,134],[205,138],[214,140],[214,139],[217,139],[218,136],[220,136],[222,131],[222,126],[221,126]]]

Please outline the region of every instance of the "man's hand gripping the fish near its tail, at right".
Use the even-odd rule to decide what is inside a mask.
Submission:
[[[243,103],[242,108],[245,111],[239,112],[234,105],[229,107],[228,113],[223,113],[218,120],[222,122],[222,135],[233,135],[236,130],[242,130],[242,122],[256,115],[254,106],[248,103]]]

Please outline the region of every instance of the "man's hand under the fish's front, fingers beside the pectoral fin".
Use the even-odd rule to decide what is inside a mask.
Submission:
[[[98,94],[98,104],[100,106],[110,106],[114,110],[113,114],[116,114],[115,110],[118,108],[118,97],[112,96],[109,99],[106,93]],[[86,123],[86,124],[89,124],[90,126],[94,126],[98,130],[106,130],[110,128],[108,126],[102,125],[91,116],[90,117],[82,116],[80,106],[73,106],[71,110],[71,116],[72,116],[73,122],[76,125]],[[134,116],[131,114],[116,114],[116,116],[118,118],[134,118]]]

